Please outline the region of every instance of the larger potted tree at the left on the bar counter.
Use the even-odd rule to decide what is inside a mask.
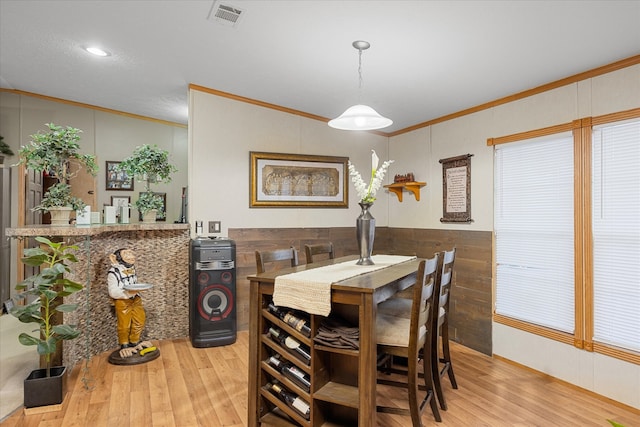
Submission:
[[[80,129],[69,126],[63,128],[53,123],[47,123],[46,126],[48,132],[31,135],[31,143],[20,147],[18,165],[24,164],[36,172],[46,172],[56,179],[57,182],[49,187],[34,210],[50,212],[52,225],[68,225],[71,212],[86,206],[82,199],[71,195],[69,180],[78,174],[80,168],[96,176],[98,165],[95,156],[80,153]],[[78,165],[77,170],[71,169],[71,161]],[[58,214],[60,211],[64,213]]]

